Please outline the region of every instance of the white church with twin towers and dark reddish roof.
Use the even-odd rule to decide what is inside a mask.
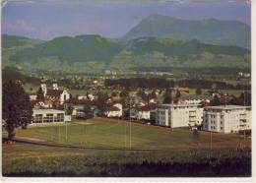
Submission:
[[[70,93],[65,89],[59,90],[57,84],[53,84],[52,89],[47,89],[46,84],[41,84],[41,89],[44,97],[48,97],[52,101],[59,101],[60,104],[70,98]]]

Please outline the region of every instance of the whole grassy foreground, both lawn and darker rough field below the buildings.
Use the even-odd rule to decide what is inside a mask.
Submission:
[[[162,128],[132,123],[132,148],[160,151],[128,151],[129,123],[96,118],[66,126],[30,127],[18,137],[46,142],[116,147],[123,150],[56,148],[16,143],[3,145],[4,176],[250,176],[250,140],[247,148],[236,135]],[[126,136],[125,136],[126,129]],[[3,134],[6,136],[6,133]],[[126,140],[126,143],[125,143]],[[242,144],[241,144],[242,143]],[[239,147],[239,145],[243,147]]]

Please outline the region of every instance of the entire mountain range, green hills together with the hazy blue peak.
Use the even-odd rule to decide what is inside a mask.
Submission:
[[[153,15],[116,39],[88,34],[45,41],[2,34],[2,63],[67,72],[153,66],[250,68],[250,45],[244,37],[250,31],[247,27],[231,21],[185,21]],[[227,43],[228,37],[231,43]]]

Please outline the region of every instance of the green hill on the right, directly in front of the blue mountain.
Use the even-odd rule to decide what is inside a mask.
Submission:
[[[130,40],[110,66],[132,67],[232,67],[250,68],[250,51],[198,40],[142,37]]]

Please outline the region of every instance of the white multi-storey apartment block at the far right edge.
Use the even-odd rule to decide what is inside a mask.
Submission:
[[[250,106],[209,106],[204,111],[203,130],[228,134],[248,129],[251,129]]]

